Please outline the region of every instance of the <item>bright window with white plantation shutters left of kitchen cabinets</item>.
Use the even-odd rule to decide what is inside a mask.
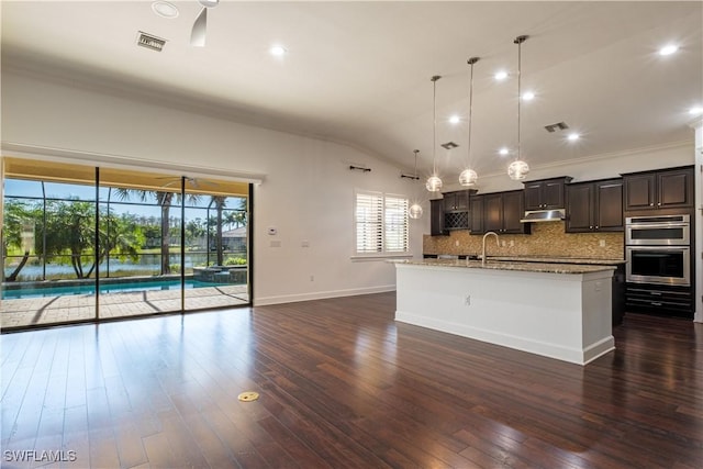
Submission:
[[[408,199],[357,191],[355,231],[358,255],[408,253]]]

